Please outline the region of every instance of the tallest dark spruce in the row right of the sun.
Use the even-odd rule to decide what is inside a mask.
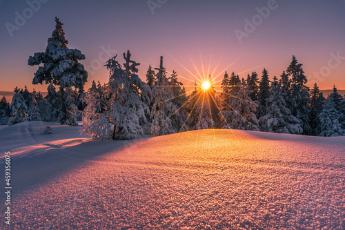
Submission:
[[[308,80],[306,75],[304,75],[302,64],[297,63],[295,56],[293,56],[293,60],[291,61],[290,66],[288,66],[286,74],[290,76],[290,88],[286,97],[288,108],[290,109],[291,114],[299,119],[303,128],[303,134],[310,135],[310,93],[309,88],[305,85]]]

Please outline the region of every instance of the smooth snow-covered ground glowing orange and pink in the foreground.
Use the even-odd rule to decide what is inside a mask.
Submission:
[[[345,228],[345,137],[200,130],[97,142],[80,129],[1,126],[11,229]]]

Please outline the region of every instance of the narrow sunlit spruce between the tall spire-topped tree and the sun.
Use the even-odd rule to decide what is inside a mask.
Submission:
[[[173,97],[171,99],[172,104],[177,107],[179,115],[173,113],[170,115],[170,120],[172,126],[176,129],[177,132],[188,131],[188,126],[184,126],[188,113],[186,111],[186,102],[188,101],[186,95],[186,89],[183,84],[177,80],[177,73],[175,70],[172,70],[171,77],[169,77],[169,86],[172,90]]]

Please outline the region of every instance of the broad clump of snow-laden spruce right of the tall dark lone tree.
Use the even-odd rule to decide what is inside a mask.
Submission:
[[[141,97],[149,94],[149,87],[133,74],[137,73],[137,63],[126,60],[124,70],[116,57],[106,64],[110,70],[108,84],[96,86],[93,82],[83,95],[83,102],[86,103],[83,132],[95,139],[130,140],[142,133],[139,119],[145,120],[147,106]],[[127,57],[130,57],[129,52]]]

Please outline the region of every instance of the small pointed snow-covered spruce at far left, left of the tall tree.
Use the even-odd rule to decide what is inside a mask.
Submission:
[[[20,122],[28,121],[28,107],[26,106],[25,100],[22,95],[19,94],[19,89],[14,88],[14,95],[11,102],[11,117],[8,120],[8,124],[17,124]]]

